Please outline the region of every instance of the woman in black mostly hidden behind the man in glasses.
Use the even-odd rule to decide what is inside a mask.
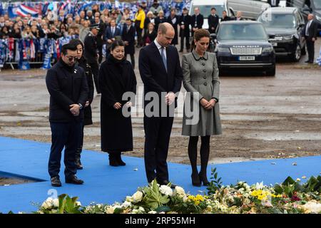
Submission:
[[[85,57],[83,57],[83,43],[78,39],[73,39],[69,43],[77,47],[78,66],[81,66],[86,73],[89,94],[88,100],[86,101],[86,105],[83,108],[83,128],[85,125],[92,125],[92,115],[91,115],[91,103],[93,102],[93,73],[91,72],[91,66],[87,63]],[[76,166],[78,170],[82,170],[83,166],[81,165],[81,151],[83,150],[83,130],[81,131],[81,141],[78,149],[76,151]]]

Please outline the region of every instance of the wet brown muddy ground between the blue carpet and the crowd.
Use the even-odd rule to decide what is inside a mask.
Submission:
[[[275,77],[242,71],[220,78],[223,135],[211,138],[211,163],[321,154],[321,68],[307,65],[306,58],[299,63],[278,58]],[[51,141],[45,76],[40,69],[0,72],[1,136]],[[142,82],[137,67],[136,77],[139,101]],[[88,150],[100,151],[100,98],[92,104],[94,124],[85,128]],[[188,138],[180,135],[182,108],[180,102],[168,161],[188,164]],[[136,111],[141,114],[141,108],[133,114],[134,151],[125,154],[143,157],[143,120]]]

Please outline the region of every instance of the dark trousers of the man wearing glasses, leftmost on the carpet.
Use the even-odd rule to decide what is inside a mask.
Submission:
[[[51,150],[48,170],[51,177],[59,177],[61,152],[65,147],[63,162],[65,164],[65,177],[68,179],[76,175],[76,150],[81,140],[82,123],[71,121],[68,123],[50,123]]]

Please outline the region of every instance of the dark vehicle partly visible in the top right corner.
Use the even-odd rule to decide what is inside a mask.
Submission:
[[[308,14],[314,14],[315,20],[319,22],[317,31],[321,32],[321,0],[287,0],[287,5],[300,9],[305,21]]]

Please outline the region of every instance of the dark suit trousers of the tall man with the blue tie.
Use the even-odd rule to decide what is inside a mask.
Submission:
[[[167,155],[173,117],[144,116],[145,130],[145,169],[148,182],[168,181]]]

